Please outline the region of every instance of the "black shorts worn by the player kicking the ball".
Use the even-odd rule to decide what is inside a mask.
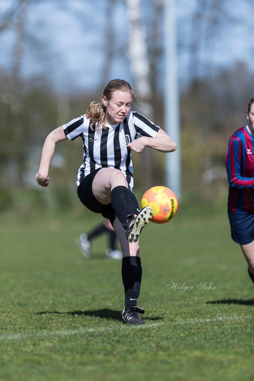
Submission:
[[[92,185],[93,185],[93,179],[96,173],[101,170],[101,168],[98,168],[94,170],[93,172],[89,173],[79,184],[77,193],[78,198],[82,202],[82,204],[85,205],[86,208],[91,210],[94,213],[101,213],[101,215],[104,218],[108,218],[113,225],[113,222],[115,220],[115,211],[113,210],[111,204],[103,205],[101,204],[96,198],[94,197]],[[134,196],[133,192],[129,190],[129,195],[131,197],[131,203],[133,206],[133,213],[137,214],[137,209],[139,209],[139,203],[137,202],[136,197]]]

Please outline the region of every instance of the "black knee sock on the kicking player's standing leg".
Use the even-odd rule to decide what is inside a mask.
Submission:
[[[122,279],[125,288],[125,311],[137,306],[142,277],[139,257],[124,257],[122,260]]]

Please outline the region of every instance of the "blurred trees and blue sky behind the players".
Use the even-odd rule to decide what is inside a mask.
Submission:
[[[253,97],[253,26],[245,15],[254,4],[176,6],[183,195],[214,200],[226,193],[228,139],[246,122]],[[76,203],[81,141],[57,146],[46,192],[34,180],[42,145],[51,130],[98,102],[112,78],[131,82],[144,103],[139,112],[165,126],[163,7],[163,0],[0,2],[0,208],[26,191],[44,206]],[[163,154],[144,150],[133,158],[136,188],[165,182]]]

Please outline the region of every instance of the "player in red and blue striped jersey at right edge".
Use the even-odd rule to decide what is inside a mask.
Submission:
[[[254,283],[254,98],[246,116],[248,124],[232,135],[226,153],[228,218],[232,239],[240,244]]]

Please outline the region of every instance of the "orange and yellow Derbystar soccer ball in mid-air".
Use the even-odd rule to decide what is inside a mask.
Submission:
[[[178,208],[178,200],[171,189],[157,186],[146,191],[141,199],[141,208],[153,208],[152,222],[165,224],[174,217]]]

